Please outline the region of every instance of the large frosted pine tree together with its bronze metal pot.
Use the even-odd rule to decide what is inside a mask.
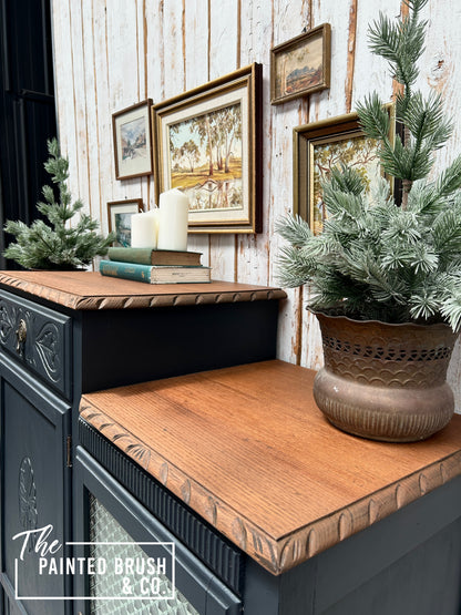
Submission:
[[[380,14],[370,48],[402,85],[396,114],[403,139],[388,139],[389,115],[373,93],[358,106],[367,136],[380,142],[382,170],[402,183],[401,206],[382,180],[368,195],[342,166],[322,185],[328,217],[319,235],[287,216],[277,230],[285,286],[310,285],[325,367],[316,402],[336,427],[397,442],[428,438],[454,410],[447,368],[461,328],[461,156],[429,181],[433,153],[451,134],[442,100],[413,90],[428,0],[408,0],[409,14]]]

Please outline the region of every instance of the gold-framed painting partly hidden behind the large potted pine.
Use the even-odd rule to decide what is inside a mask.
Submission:
[[[386,105],[390,115],[389,139],[393,143],[396,130],[395,105]],[[365,136],[357,113],[349,113],[298,126],[294,130],[294,212],[309,223],[315,234],[321,232],[327,213],[321,182],[331,168],[341,163],[356,168],[367,189],[372,192],[382,175],[378,155],[379,142]],[[398,197],[398,186],[388,177],[391,192]]]

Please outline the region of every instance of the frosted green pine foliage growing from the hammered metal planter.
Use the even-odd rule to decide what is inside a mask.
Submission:
[[[332,171],[322,185],[327,219],[320,235],[288,216],[278,232],[283,248],[280,281],[310,284],[310,308],[356,319],[386,322],[447,321],[461,328],[461,156],[429,181],[433,153],[451,134],[439,94],[414,89],[427,22],[428,0],[408,0],[409,16],[391,22],[380,14],[370,27],[373,53],[388,61],[401,84],[396,115],[403,139],[388,137],[389,114],[373,93],[359,106],[367,136],[380,142],[382,170],[401,180],[401,206],[382,180],[376,194],[365,192],[351,168]]]

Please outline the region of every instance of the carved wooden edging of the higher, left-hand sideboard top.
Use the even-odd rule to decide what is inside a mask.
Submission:
[[[47,299],[54,304],[64,306],[70,309],[78,310],[96,310],[96,309],[133,309],[133,308],[153,308],[153,307],[172,307],[172,306],[191,306],[205,304],[228,304],[239,301],[258,301],[272,299],[285,299],[286,293],[280,288],[262,288],[250,290],[211,290],[206,293],[181,293],[177,288],[176,293],[168,295],[155,295],[155,287],[152,294],[135,296],[79,296],[71,293],[50,288],[41,284],[18,279],[7,273],[0,274],[0,284],[17,288],[23,293],[29,293],[35,297]]]

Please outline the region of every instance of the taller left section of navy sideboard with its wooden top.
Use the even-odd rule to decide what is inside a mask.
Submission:
[[[283,297],[221,281],[154,286],[89,271],[0,271],[2,613],[74,611],[73,601],[58,599],[72,596],[70,576],[34,572],[37,530],[52,526],[60,554],[73,551],[82,393],[275,358]],[[21,558],[25,534],[12,537],[24,532]]]

